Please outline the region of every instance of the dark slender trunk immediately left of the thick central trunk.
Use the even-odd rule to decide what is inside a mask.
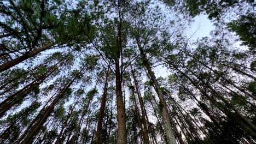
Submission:
[[[104,90],[101,98],[101,107],[100,107],[100,113],[98,114],[98,124],[97,124],[97,131],[96,131],[96,143],[101,143],[101,131],[102,131],[102,122],[103,122],[103,116],[104,116],[104,110],[106,105],[106,98],[107,98],[107,89],[108,89],[108,73],[109,73],[109,66],[106,74],[106,80],[104,85]]]

